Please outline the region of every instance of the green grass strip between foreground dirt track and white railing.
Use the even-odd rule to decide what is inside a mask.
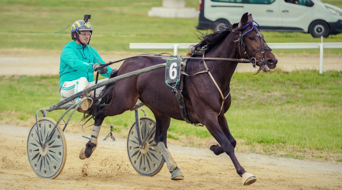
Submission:
[[[56,75],[2,76],[0,90],[6,92],[0,100],[2,120],[32,120],[37,109],[58,102],[58,81]],[[334,71],[323,75],[311,70],[276,70],[256,76],[235,73],[231,81],[232,106],[225,116],[235,138],[247,145],[265,145],[264,151],[272,148],[268,146],[282,149],[293,145],[298,150],[342,153],[341,85],[342,73]],[[147,108],[146,111],[153,117]],[[11,114],[4,115],[8,113]],[[57,110],[48,116],[57,120],[62,113]],[[80,118],[81,114],[76,113],[71,121],[78,122]],[[106,118],[103,126],[113,124],[120,132],[128,130],[133,122],[134,113],[127,111]],[[168,137],[178,140],[180,136],[211,135],[205,127],[172,119]]]

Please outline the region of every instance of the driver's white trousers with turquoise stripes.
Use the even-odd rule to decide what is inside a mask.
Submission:
[[[97,83],[100,83],[105,80],[108,80],[108,78],[98,80]],[[95,81],[89,83],[86,77],[81,77],[74,81],[67,81],[67,82],[64,82],[64,84],[62,85],[61,95],[62,97],[68,98],[76,94],[77,92],[84,90],[86,86],[92,86],[94,84],[95,84]],[[96,89],[96,97],[100,96],[100,92],[102,91],[104,87],[105,86]],[[94,98],[94,91],[91,91],[91,98]],[[76,98],[75,102],[78,102],[78,101],[80,101],[80,99]]]

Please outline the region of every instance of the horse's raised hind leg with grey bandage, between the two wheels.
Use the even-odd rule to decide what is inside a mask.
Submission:
[[[106,104],[108,105],[108,104]],[[104,112],[104,108],[105,106],[104,104],[99,104],[97,106],[97,113],[95,114],[95,123],[93,126],[93,131],[91,132],[91,137],[90,140],[88,141],[88,143],[86,144],[86,148],[83,148],[80,152],[80,159],[84,160],[86,158],[89,158],[94,150],[97,147],[97,137],[98,137],[98,133],[100,132],[101,129],[101,125],[103,120],[105,119],[106,115]]]

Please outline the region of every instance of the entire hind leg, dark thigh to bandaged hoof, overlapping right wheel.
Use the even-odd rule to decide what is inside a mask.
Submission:
[[[177,167],[176,161],[172,158],[169,149],[167,148],[166,138],[167,131],[170,126],[170,117],[163,116],[161,114],[157,114],[154,112],[154,116],[156,118],[156,135],[155,142],[157,143],[157,147],[163,156],[166,165],[171,173],[172,180],[182,180],[184,179],[184,175],[182,171]]]

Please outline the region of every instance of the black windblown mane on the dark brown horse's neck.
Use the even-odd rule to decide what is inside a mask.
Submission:
[[[233,26],[229,26],[226,24],[219,24],[217,27],[217,31],[211,31],[202,33],[198,31],[197,37],[201,40],[198,44],[192,45],[190,47],[190,52],[195,55],[205,54],[209,52],[215,45],[219,44],[229,35],[233,28],[236,28],[238,23],[235,23]]]

